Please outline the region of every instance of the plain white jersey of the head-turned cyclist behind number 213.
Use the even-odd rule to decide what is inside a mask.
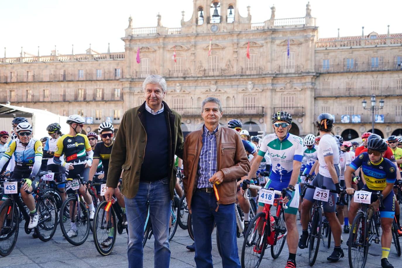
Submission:
[[[318,164],[319,164],[318,173],[327,178],[331,178],[331,174],[329,173],[328,166],[325,162],[324,157],[332,155],[334,158],[334,166],[338,165],[339,148],[337,141],[338,139],[332,136],[331,134],[324,134],[322,135],[320,143],[318,144],[318,153],[317,153]]]

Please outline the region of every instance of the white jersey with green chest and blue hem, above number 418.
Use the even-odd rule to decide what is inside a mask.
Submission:
[[[301,162],[303,158],[303,140],[300,137],[288,133],[284,140],[279,140],[275,133],[263,138],[259,156],[269,152],[272,163],[270,179],[290,182],[293,171],[293,160]],[[277,189],[281,190],[281,189]]]

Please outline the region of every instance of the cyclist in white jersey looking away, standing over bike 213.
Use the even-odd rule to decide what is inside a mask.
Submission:
[[[312,185],[321,187],[326,186],[326,189],[336,190],[339,194],[341,192],[340,183],[338,180],[339,172],[339,149],[338,138],[332,136],[331,131],[334,126],[334,118],[331,114],[323,113],[317,118],[316,127],[320,132],[320,144],[318,144],[318,174],[312,181]],[[342,138],[342,137],[340,137]],[[310,209],[313,206],[314,189],[306,189],[306,193],[301,203],[301,225],[303,233],[300,236],[299,248],[306,248],[308,239],[308,222],[310,220]],[[340,223],[336,218],[336,193],[329,193],[328,202],[322,202],[325,217],[330,224],[332,235],[334,237],[335,248],[332,254],[327,258],[331,262],[337,262],[344,256],[343,250],[340,247],[340,235],[342,229]]]

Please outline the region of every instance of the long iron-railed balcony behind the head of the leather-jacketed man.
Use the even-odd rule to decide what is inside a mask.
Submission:
[[[201,114],[200,108],[172,108],[182,117],[198,117]],[[264,116],[264,107],[224,107],[223,117],[230,116]]]

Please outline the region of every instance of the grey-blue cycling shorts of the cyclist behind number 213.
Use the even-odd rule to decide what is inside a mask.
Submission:
[[[335,183],[331,178],[324,177],[320,173],[312,181],[311,185],[316,187],[322,187],[324,185],[326,189],[336,190]],[[307,188],[306,193],[304,194],[303,199],[307,199],[308,201],[314,202],[314,191],[315,189]],[[322,202],[322,206],[324,208],[324,212],[335,212],[336,210],[336,201],[338,200],[338,195],[336,193],[329,193],[328,202]]]

